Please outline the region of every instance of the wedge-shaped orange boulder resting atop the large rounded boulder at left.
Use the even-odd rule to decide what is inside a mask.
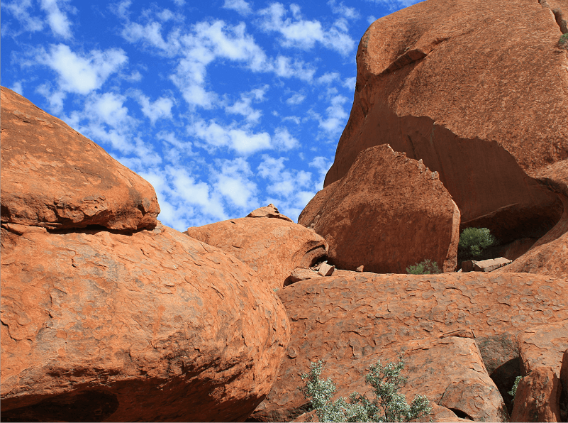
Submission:
[[[30,101],[1,87],[1,221],[50,229],[152,229],[150,183]]]

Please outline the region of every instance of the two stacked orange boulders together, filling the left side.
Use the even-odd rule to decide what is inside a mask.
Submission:
[[[2,419],[246,419],[289,341],[270,287],[162,226],[147,182],[5,88],[1,132]]]

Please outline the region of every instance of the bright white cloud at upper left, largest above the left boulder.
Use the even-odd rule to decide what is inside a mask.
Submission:
[[[40,52],[38,57],[38,63],[57,72],[60,89],[77,94],[99,89],[126,62],[128,57],[121,49],[91,50],[78,55],[65,44],[50,45],[49,53]]]

